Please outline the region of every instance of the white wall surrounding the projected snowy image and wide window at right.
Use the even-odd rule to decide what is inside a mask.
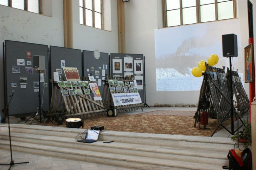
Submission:
[[[256,0],[251,0],[256,6]],[[248,19],[247,1],[238,0],[238,17],[240,25],[227,25],[240,27],[242,47],[248,45]],[[154,29],[161,28],[161,0],[131,0],[125,3],[125,45],[126,53],[139,53],[145,55],[146,74],[146,103],[150,106],[160,104],[196,104],[199,99],[199,91],[164,92],[156,91],[156,64],[155,64],[155,33]],[[254,10],[255,13],[255,10]],[[256,16],[256,15],[254,15]],[[254,17],[255,23],[255,17]],[[182,27],[182,26],[181,26]],[[169,29],[172,28],[164,28]],[[256,32],[254,27],[254,32]],[[232,33],[232,32],[231,32]],[[175,42],[173,42],[175,43]],[[171,46],[172,44],[169,44]],[[219,56],[222,57],[222,56]],[[243,57],[243,56],[239,56]],[[240,63],[244,65],[244,63]],[[197,66],[195,66],[197,67]],[[228,67],[228,66],[226,66]],[[249,94],[248,83],[245,90]]]

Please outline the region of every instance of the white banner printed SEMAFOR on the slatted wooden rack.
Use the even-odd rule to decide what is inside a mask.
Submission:
[[[112,93],[111,95],[115,106],[141,103],[139,93]]]

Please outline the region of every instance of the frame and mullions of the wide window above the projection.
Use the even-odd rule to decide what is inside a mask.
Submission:
[[[166,0],[162,0],[163,28],[168,27],[167,26],[167,11],[173,11],[173,10],[180,10],[180,22],[181,22],[181,24],[176,25],[176,26],[190,25],[190,24],[183,24],[183,22],[182,22],[182,10],[186,9],[186,8],[190,8],[190,7],[182,8],[182,0],[179,0],[179,1],[180,1],[180,8],[167,10]],[[237,18],[236,0],[227,0],[227,1],[224,1],[224,2],[228,2],[228,1],[233,1],[233,16],[234,16],[233,18],[228,18],[228,19]],[[215,4],[215,20],[214,21],[226,20],[226,19],[218,20],[218,3],[222,3],[222,2],[217,2],[217,0],[214,0],[214,4]],[[204,4],[204,5],[208,5],[208,4]],[[214,22],[214,21],[201,22],[200,7],[204,6],[204,5],[200,5],[200,0],[196,0],[196,14],[197,14],[196,18],[197,18],[197,21],[196,21],[196,23],[193,23],[193,24],[205,23],[205,22]],[[176,26],[169,26],[169,27],[176,27]]]

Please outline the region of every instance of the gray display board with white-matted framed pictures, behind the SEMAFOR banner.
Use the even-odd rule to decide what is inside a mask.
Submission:
[[[144,64],[143,54],[110,54],[110,66],[112,76],[129,76],[133,75],[137,81],[142,103],[144,103]]]

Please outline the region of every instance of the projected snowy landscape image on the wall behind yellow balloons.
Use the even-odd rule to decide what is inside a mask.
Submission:
[[[235,25],[236,27],[232,27]],[[227,26],[230,29],[227,30]],[[244,48],[241,49],[238,20],[226,20],[155,30],[157,91],[200,90],[203,76],[194,77],[191,70],[211,54],[219,56],[214,66],[229,67],[229,58],[222,55],[222,35],[234,33],[238,40],[238,56],[232,67],[243,79]],[[232,69],[233,69],[232,68]]]

